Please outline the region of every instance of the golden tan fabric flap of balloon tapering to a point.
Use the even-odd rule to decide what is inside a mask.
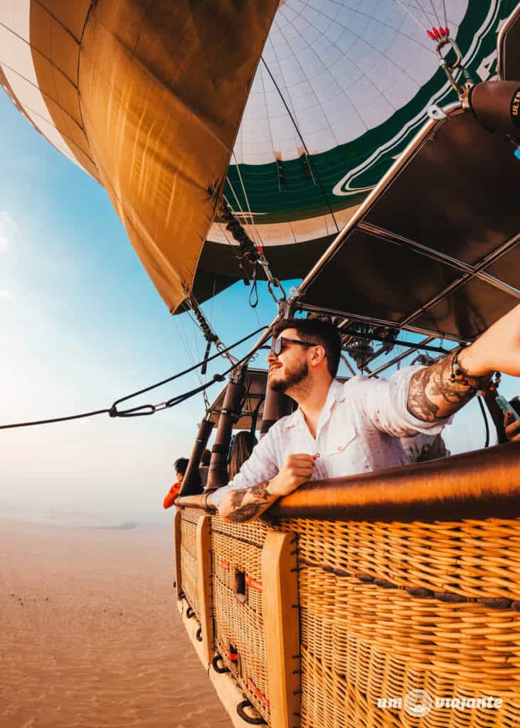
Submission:
[[[108,191],[172,312],[192,290],[277,6],[31,1],[32,58],[52,121]]]

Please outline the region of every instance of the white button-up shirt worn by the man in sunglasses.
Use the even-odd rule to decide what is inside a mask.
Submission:
[[[310,434],[301,409],[282,417],[256,445],[235,478],[211,494],[210,501],[219,507],[226,492],[273,478],[294,454],[319,454],[311,480],[406,464],[399,438],[419,432],[436,435],[451,422],[423,422],[406,408],[411,376],[420,368],[406,367],[389,380],[354,376],[344,384],[332,381],[316,438]]]

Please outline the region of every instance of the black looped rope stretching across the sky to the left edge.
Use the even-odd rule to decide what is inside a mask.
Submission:
[[[248,336],[243,336],[242,339],[239,339],[239,341],[235,341],[235,344],[231,344],[229,347],[226,347],[221,352],[217,352],[216,354],[213,354],[210,357],[205,357],[202,361],[194,364],[193,366],[189,367],[188,369],[184,369],[184,371],[178,372],[177,374],[174,374],[173,376],[168,377],[168,379],[162,379],[162,381],[158,381],[157,384],[151,384],[149,387],[145,387],[144,389],[139,389],[138,392],[133,392],[130,395],[125,395],[125,397],[120,397],[119,400],[116,400],[113,405],[111,405],[108,409],[102,409],[102,410],[95,410],[92,412],[83,412],[81,414],[73,414],[68,415],[66,417],[54,417],[52,419],[40,419],[36,420],[34,422],[16,422],[14,424],[0,424],[0,430],[12,430],[15,427],[32,427],[36,424],[52,424],[54,422],[67,422],[71,419],[82,419],[84,417],[92,417],[98,414],[109,414],[111,417],[137,417],[137,416],[144,416],[149,414],[155,414],[156,412],[168,409],[170,407],[174,407],[175,405],[181,404],[185,400],[189,399],[190,397],[193,397],[194,395],[199,394],[200,392],[204,392],[205,389],[208,389],[208,387],[211,387],[213,384],[216,383],[216,381],[224,381],[225,377],[229,372],[231,372],[233,369],[237,368],[241,364],[243,364],[245,361],[251,358],[253,354],[255,354],[256,349],[258,349],[258,346],[253,349],[253,352],[248,352],[242,359],[235,360],[235,362],[232,363],[232,365],[226,369],[221,374],[213,374],[213,378],[206,382],[205,384],[201,384],[200,387],[196,387],[195,389],[190,389],[189,392],[184,392],[182,395],[177,395],[176,397],[173,397],[170,400],[167,400],[166,402],[159,403],[157,405],[138,405],[136,407],[132,407],[127,410],[118,411],[117,405],[125,402],[126,400],[132,399],[133,397],[137,397],[138,395],[144,394],[144,392],[150,392],[151,389],[157,389],[157,387],[162,387],[163,384],[168,384],[170,381],[173,381],[174,379],[178,379],[181,376],[184,376],[185,374],[189,374],[190,372],[194,371],[194,369],[197,369],[199,367],[202,367],[205,363],[208,363],[210,361],[213,361],[217,357],[220,357],[222,354],[229,352],[230,349],[235,349],[235,347],[240,346],[240,344],[243,344],[244,341],[248,341],[248,339],[251,339],[252,336],[255,336],[257,333],[260,333],[261,331],[264,331],[266,328],[269,328],[268,326],[261,326],[260,328],[256,329],[256,331],[253,331],[252,333],[249,333]]]

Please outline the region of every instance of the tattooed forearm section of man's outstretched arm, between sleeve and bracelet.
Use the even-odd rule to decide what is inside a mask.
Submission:
[[[468,384],[452,380],[453,356],[414,373],[410,380],[408,411],[424,422],[449,417],[465,405],[489,376],[466,377]]]

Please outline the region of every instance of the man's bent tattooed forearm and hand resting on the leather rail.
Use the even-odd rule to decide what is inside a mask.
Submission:
[[[264,513],[278,498],[307,483],[312,475],[316,456],[306,453],[289,455],[282,469],[271,480],[251,488],[229,491],[222,499],[218,513],[224,521],[245,523]]]

